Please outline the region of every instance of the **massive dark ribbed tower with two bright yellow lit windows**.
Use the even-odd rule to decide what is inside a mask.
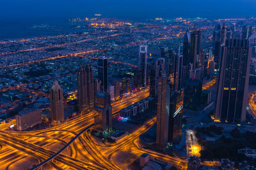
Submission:
[[[230,39],[221,51],[214,118],[221,122],[244,122],[251,58],[248,40]]]

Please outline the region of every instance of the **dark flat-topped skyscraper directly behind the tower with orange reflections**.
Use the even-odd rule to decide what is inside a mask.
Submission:
[[[98,59],[98,78],[101,81],[102,92],[108,92],[108,58],[99,57]]]

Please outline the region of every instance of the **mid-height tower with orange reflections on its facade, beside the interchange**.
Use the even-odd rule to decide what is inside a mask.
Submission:
[[[97,92],[95,95],[94,117],[95,129],[105,132],[112,128],[112,107],[108,92]]]

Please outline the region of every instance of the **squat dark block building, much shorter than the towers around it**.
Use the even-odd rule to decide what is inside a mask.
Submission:
[[[184,108],[197,110],[200,107],[202,96],[202,81],[190,78],[185,81],[184,87]]]

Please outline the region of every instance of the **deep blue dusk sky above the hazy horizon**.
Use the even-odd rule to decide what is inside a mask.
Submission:
[[[256,16],[256,0],[0,0],[0,20]]]

